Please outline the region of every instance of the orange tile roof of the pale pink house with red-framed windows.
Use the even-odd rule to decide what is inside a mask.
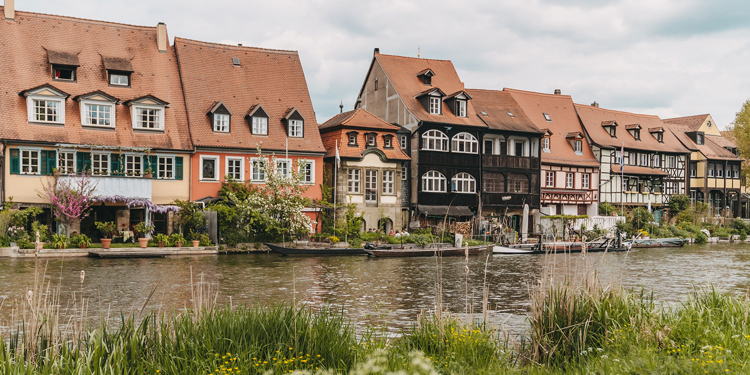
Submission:
[[[571,164],[580,166],[598,166],[599,162],[591,151],[588,139],[581,139],[582,154],[577,155],[572,146],[565,139],[568,133],[578,133],[583,129],[580,127],[578,116],[573,107],[570,95],[542,94],[540,92],[526,92],[515,89],[502,89],[509,92],[535,125],[540,129],[552,130],[550,136],[551,152],[541,153],[542,163]],[[544,118],[544,113],[550,115],[552,121]],[[599,125],[601,127],[601,125]]]

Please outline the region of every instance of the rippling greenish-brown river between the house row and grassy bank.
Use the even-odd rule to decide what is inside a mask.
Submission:
[[[486,273],[485,269],[486,262]],[[0,259],[0,331],[7,329],[10,308],[34,288],[43,275],[61,291],[61,308],[72,305],[74,292],[89,299],[89,317],[146,308],[178,311],[190,305],[190,275],[200,273],[219,293],[222,303],[304,302],[336,305],[358,325],[383,323],[398,329],[434,308],[437,263],[425,258],[281,257],[276,254],[233,254],[101,260]],[[466,273],[468,267],[468,273]],[[689,245],[685,248],[637,249],[628,253],[581,257],[544,255],[478,255],[442,259],[443,304],[464,313],[467,300],[481,315],[485,282],[493,309],[493,326],[505,324],[515,333],[526,327],[529,288],[544,269],[556,277],[597,270],[604,283],[653,291],[656,299],[674,303],[694,285],[713,284],[744,292],[750,287],[750,244]],[[46,271],[45,271],[46,269]],[[80,274],[86,277],[81,283]],[[148,296],[153,291],[151,298]],[[5,302],[2,302],[5,300]],[[115,314],[118,315],[118,314]],[[2,327],[3,325],[5,327]]]

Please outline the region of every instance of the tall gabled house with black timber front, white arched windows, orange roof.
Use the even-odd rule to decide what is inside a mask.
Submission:
[[[381,55],[375,49],[357,108],[410,132],[412,216],[468,219],[478,212],[481,134],[452,62]]]

